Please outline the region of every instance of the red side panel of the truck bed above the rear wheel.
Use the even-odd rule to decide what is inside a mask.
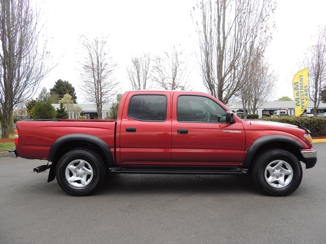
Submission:
[[[103,140],[114,150],[116,120],[56,119],[19,121],[17,154],[27,159],[48,160],[51,145],[65,135],[86,134]],[[75,141],[78,143],[78,141]],[[35,154],[37,152],[37,154]],[[112,152],[113,153],[113,152]]]

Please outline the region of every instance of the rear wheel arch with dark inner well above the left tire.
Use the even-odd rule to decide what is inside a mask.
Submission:
[[[56,178],[56,167],[60,158],[74,148],[89,148],[96,151],[107,167],[114,166],[110,147],[102,139],[87,134],[69,134],[58,138],[51,146],[48,161],[52,162],[47,182]]]

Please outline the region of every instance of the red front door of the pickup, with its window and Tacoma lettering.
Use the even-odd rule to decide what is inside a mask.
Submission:
[[[226,111],[205,96],[174,94],[172,163],[175,165],[239,165],[246,136],[240,121],[225,122]]]

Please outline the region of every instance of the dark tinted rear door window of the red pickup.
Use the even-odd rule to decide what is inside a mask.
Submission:
[[[165,121],[167,97],[164,95],[135,95],[130,99],[128,116],[142,121]]]

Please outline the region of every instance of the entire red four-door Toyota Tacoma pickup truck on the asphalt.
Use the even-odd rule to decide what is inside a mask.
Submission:
[[[107,173],[247,174],[273,196],[294,192],[301,162],[317,162],[310,131],[235,116],[218,99],[197,92],[130,91],[117,120],[28,120],[16,125],[11,157],[47,160],[74,196],[98,189]],[[49,162],[51,164],[49,165]]]

